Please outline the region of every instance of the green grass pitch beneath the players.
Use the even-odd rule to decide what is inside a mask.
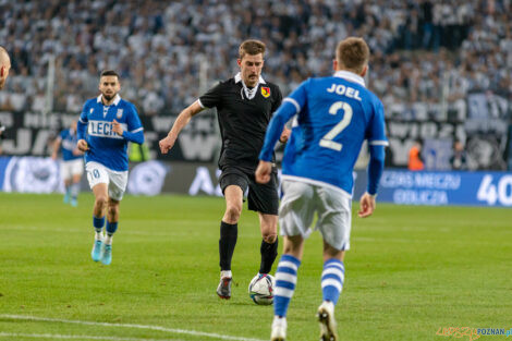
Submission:
[[[510,209],[378,204],[359,219],[356,206],[337,307],[341,340],[447,340],[439,328],[512,327]],[[259,267],[256,214],[244,207],[233,296],[221,301],[222,198],[126,196],[110,266],[90,259],[92,207],[90,194],[77,208],[57,194],[0,194],[0,341],[269,339],[272,308],[247,295]],[[320,255],[316,232],[289,310],[290,341],[318,339]]]

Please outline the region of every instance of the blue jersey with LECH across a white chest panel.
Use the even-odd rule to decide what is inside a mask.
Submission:
[[[112,121],[121,123],[123,136],[112,131]],[[96,161],[114,171],[129,169],[127,142],[144,142],[143,125],[135,106],[121,99],[119,95],[112,105],[103,106],[101,95],[88,99],[78,120],[78,139],[83,126],[87,126],[86,141],[89,150],[85,153],[85,162]]]

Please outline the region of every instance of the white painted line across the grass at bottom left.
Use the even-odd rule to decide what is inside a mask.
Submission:
[[[174,328],[166,328],[166,327],[160,327],[160,326],[95,322],[95,321],[84,321],[84,320],[76,320],[76,319],[60,319],[60,318],[24,316],[24,315],[7,315],[7,314],[5,315],[0,315],[0,318],[17,319],[17,320],[32,320],[32,321],[47,321],[47,322],[61,322],[61,324],[75,324],[75,325],[86,325],[86,326],[148,329],[148,330],[158,330],[158,331],[166,331],[166,332],[170,332],[170,333],[187,334],[187,336],[193,336],[193,337],[205,337],[205,338],[219,339],[219,340],[264,341],[264,340],[260,340],[260,339],[221,336],[221,334],[214,333],[214,332],[204,332],[204,331],[186,330],[186,329],[174,329]]]

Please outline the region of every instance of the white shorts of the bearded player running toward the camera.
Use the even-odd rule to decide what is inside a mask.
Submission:
[[[106,183],[109,197],[120,202],[123,198],[127,184],[127,171],[113,171],[101,163],[89,161],[85,165],[89,187],[93,190],[98,183]]]

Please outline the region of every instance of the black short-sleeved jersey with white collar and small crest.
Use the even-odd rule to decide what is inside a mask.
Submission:
[[[217,108],[222,135],[221,169],[224,166],[256,169],[268,123],[281,100],[279,86],[263,78],[254,98],[248,99],[239,75],[219,82],[199,97],[202,107]]]

